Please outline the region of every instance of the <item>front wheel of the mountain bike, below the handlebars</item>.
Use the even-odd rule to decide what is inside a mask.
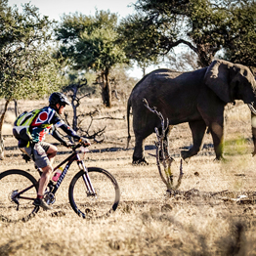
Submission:
[[[97,197],[88,195],[82,177],[84,171],[81,170],[69,185],[68,197],[71,207],[84,219],[108,217],[119,204],[119,186],[114,177],[102,168],[89,167],[88,172]]]

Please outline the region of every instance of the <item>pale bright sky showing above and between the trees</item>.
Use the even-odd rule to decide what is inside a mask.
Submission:
[[[29,3],[39,8],[39,13],[42,16],[48,16],[50,20],[61,21],[61,17],[65,14],[74,14],[75,12],[87,16],[94,16],[96,10],[109,10],[111,13],[116,13],[118,18],[125,18],[132,15],[137,0],[9,0],[9,6],[17,5],[21,9],[21,4]],[[147,72],[156,69],[154,66],[149,66]],[[142,78],[143,71],[136,64],[128,71],[132,77]]]

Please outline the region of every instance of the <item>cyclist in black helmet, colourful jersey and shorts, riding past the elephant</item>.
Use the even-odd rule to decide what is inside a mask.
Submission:
[[[18,146],[21,151],[28,154],[35,162],[37,168],[41,168],[42,170],[37,198],[34,200],[33,204],[42,207],[44,210],[52,209],[43,197],[54,170],[53,162],[58,151],[57,147],[54,145],[43,142],[45,134],[50,131],[55,139],[68,148],[71,144],[65,142],[56,129],[61,128],[67,135],[79,140],[79,142],[83,141],[85,144],[90,145],[87,139],[78,136],[74,130],[64,123],[60,114],[64,113],[64,107],[66,105],[70,106],[71,104],[64,94],[59,92],[53,93],[49,98],[49,107],[41,108],[29,125],[32,141],[27,142],[19,140]]]

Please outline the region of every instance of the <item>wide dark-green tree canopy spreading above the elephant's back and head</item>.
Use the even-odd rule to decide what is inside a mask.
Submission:
[[[243,51],[249,46],[255,33],[254,5],[249,0],[138,0],[137,14],[121,22],[120,34],[129,56],[141,62],[186,44],[206,66],[221,49],[234,54],[235,47]],[[251,27],[253,36],[248,36]]]

